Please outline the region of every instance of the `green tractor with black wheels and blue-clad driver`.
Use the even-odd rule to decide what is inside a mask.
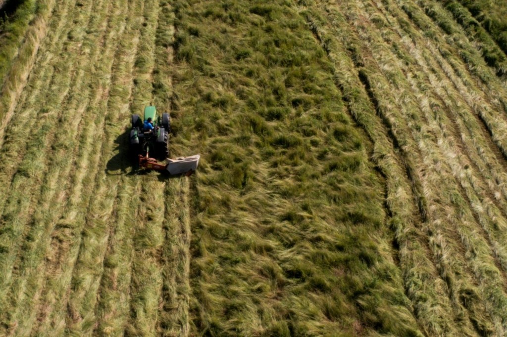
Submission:
[[[151,118],[153,130],[144,129],[144,122]],[[159,160],[169,156],[169,133],[171,132],[171,119],[168,113],[157,115],[157,108],[147,106],[144,108],[144,118],[132,115],[132,130],[130,130],[130,153],[137,158],[141,154],[149,153]]]

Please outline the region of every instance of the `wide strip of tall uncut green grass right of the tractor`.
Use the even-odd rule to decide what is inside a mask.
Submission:
[[[174,7],[173,146],[203,154],[191,332],[420,334],[371,145],[304,18],[283,2]]]

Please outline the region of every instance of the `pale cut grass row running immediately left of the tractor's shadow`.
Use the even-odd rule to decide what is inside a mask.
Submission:
[[[129,197],[126,195],[119,176],[106,175],[108,161],[113,156],[118,126],[116,125],[118,113],[124,102],[111,101],[112,91],[116,81],[122,73],[117,73],[117,67],[124,62],[123,58],[130,59],[122,50],[120,41],[130,37],[125,18],[133,16],[139,10],[139,3],[115,4],[110,8],[113,12],[107,22],[105,38],[101,43],[104,51],[97,62],[95,76],[100,80],[100,100],[90,107],[90,110],[101,111],[96,114],[94,128],[102,131],[91,134],[90,141],[100,143],[94,151],[97,156],[96,179],[92,190],[94,198],[90,200],[87,216],[83,219],[82,233],[80,235],[79,250],[75,255],[75,266],[71,274],[72,280],[68,297],[68,308],[71,317],[67,318],[67,328],[73,333],[92,333],[97,328],[96,310],[99,305],[98,290],[101,279],[104,277],[104,257],[108,243],[116,226],[122,227],[128,217]],[[100,41],[98,41],[100,43]],[[128,97],[127,97],[128,99]],[[78,241],[79,242],[79,241]]]

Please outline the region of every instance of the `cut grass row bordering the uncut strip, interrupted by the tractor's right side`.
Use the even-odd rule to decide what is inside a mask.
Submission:
[[[155,39],[155,68],[153,71],[153,100],[160,112],[177,108],[173,78],[174,11],[169,1],[160,2]],[[172,111],[171,111],[172,112]],[[173,119],[174,121],[174,119]],[[173,123],[173,130],[177,132]],[[171,157],[188,155],[179,142],[169,145]],[[187,152],[187,153],[186,153]],[[159,302],[157,333],[186,336],[190,332],[190,189],[189,178],[175,177],[165,184],[165,240],[161,250],[162,289]]]

